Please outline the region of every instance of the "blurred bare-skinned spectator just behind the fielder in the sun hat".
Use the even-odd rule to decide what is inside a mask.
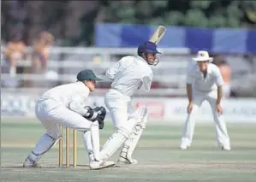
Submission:
[[[230,92],[231,92],[230,91],[230,80],[231,80],[231,76],[232,76],[232,70],[229,67],[229,63],[224,59],[223,56],[217,56],[217,58],[215,58],[214,63],[220,69],[220,72],[223,76],[223,81],[224,81],[223,96],[225,98],[229,98]]]

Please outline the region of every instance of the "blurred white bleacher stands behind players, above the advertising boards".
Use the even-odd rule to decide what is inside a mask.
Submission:
[[[4,50],[2,47],[1,51]],[[28,48],[27,52],[32,49]],[[160,56],[160,63],[157,67],[153,67],[154,82],[152,91],[149,93],[138,93],[137,96],[185,96],[185,79],[186,70],[191,60],[192,55],[190,50],[186,48],[167,49],[160,48],[163,55]],[[36,82],[33,89],[22,88],[21,90],[34,90],[45,89],[55,85],[66,84],[75,81],[75,75],[81,69],[90,68],[98,73],[98,76],[104,78],[104,72],[110,68],[112,64],[117,62],[122,56],[136,55],[135,48],[84,48],[84,47],[52,47],[50,54],[50,61],[48,65],[48,72],[45,75],[32,74],[32,73],[18,73],[15,78],[10,78],[9,73],[2,73],[2,85],[9,87],[10,85],[21,85],[23,81]],[[241,88],[241,78],[244,78],[244,85],[247,86],[248,91],[252,94],[252,83],[256,79],[253,76],[253,65],[247,62],[246,58],[242,55],[229,55],[226,57],[233,70],[232,85],[235,90],[243,90]],[[31,60],[17,62],[17,65],[22,68],[30,68]],[[251,75],[247,75],[251,73]],[[251,79],[247,79],[251,78]],[[46,85],[47,83],[47,85]],[[105,92],[110,86],[110,80],[104,78],[104,82],[98,85],[98,91],[95,94],[100,95]],[[256,84],[255,84],[256,87]]]

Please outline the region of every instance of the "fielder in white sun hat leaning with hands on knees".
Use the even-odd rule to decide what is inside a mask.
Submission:
[[[195,125],[195,114],[204,101],[211,105],[214,121],[216,123],[217,142],[222,150],[231,150],[229,135],[221,100],[223,97],[223,77],[219,68],[212,64],[212,57],[207,51],[199,51],[193,58],[196,64],[188,68],[187,94],[188,94],[188,118],[185,122],[182,144],[180,148],[187,150],[192,143]]]

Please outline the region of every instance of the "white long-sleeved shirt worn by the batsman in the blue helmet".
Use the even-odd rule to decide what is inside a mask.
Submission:
[[[124,56],[106,71],[113,79],[111,88],[125,96],[133,96],[140,88],[150,91],[153,79],[152,68],[140,56]]]

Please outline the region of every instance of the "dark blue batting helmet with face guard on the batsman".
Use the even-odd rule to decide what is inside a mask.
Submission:
[[[138,56],[142,56],[143,53],[161,54],[160,52],[158,52],[157,48],[158,48],[157,44],[152,43],[150,41],[146,41],[146,42],[139,45],[138,50],[137,50],[137,54],[138,54]],[[158,64],[159,61],[158,61],[158,58],[156,58],[156,60],[154,62],[149,62],[146,58],[146,62],[149,65],[154,65],[155,66],[155,65]]]

